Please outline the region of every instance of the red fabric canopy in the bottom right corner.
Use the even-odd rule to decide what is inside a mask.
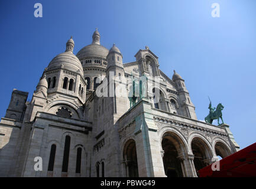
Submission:
[[[256,177],[256,143],[221,159],[219,171],[211,164],[198,172],[199,177]]]

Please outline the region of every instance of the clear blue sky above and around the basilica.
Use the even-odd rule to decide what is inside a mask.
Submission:
[[[34,17],[34,4],[43,18]],[[211,16],[219,3],[221,17]],[[256,142],[256,1],[0,1],[0,116],[12,89],[33,91],[51,59],[66,48],[74,53],[92,42],[116,43],[124,62],[135,61],[145,45],[159,57],[160,69],[175,69],[185,80],[197,118],[212,105],[225,106],[223,120],[245,148]]]

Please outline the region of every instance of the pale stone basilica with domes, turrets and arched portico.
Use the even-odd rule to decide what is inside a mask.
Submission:
[[[31,100],[12,91],[0,122],[0,177],[197,177],[239,150],[229,125],[197,120],[184,79],[176,71],[168,78],[150,48],[123,63],[119,48],[101,40],[96,29],[76,55],[72,38],[66,50],[60,44]],[[116,93],[141,76],[156,83],[145,96],[131,103]]]

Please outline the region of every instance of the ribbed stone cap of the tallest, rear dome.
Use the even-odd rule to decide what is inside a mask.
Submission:
[[[103,57],[108,56],[108,48],[98,44],[90,44],[83,47],[77,54],[77,58],[81,59],[84,57]]]

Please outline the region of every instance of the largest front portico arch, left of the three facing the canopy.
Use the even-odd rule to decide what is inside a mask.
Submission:
[[[182,161],[178,158],[186,151],[182,139],[173,132],[166,132],[161,145],[164,151],[163,164],[167,177],[184,177]]]

